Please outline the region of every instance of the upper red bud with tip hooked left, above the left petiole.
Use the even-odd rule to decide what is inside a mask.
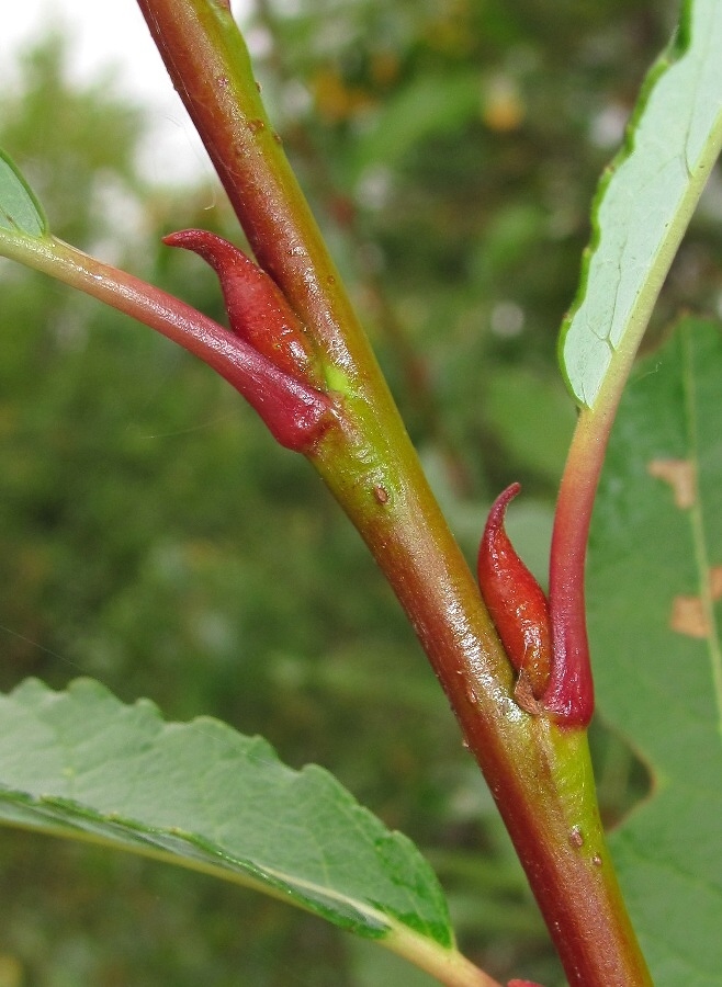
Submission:
[[[233,331],[280,370],[313,382],[313,353],[302,325],[275,282],[233,243],[205,229],[183,229],[163,237],[202,257],[221,281]]]

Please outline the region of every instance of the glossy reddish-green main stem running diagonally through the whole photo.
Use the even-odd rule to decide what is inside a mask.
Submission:
[[[266,116],[224,0],[138,0],[256,257],[305,324],[339,427],[312,462],[394,588],[578,987],[651,979],[609,860],[586,735],[523,713],[469,567]]]

